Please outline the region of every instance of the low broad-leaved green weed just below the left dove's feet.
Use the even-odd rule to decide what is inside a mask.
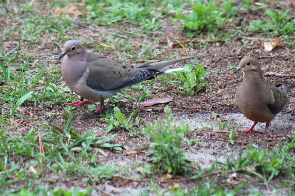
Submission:
[[[112,130],[120,130],[128,132],[131,137],[135,137],[140,132],[140,125],[143,120],[137,117],[138,110],[133,111],[128,119],[125,119],[125,114],[120,112],[118,107],[114,107],[114,116],[110,116],[109,119],[105,119],[110,125],[106,128],[106,133]]]

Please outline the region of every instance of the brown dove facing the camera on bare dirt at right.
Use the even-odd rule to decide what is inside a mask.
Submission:
[[[245,77],[237,89],[236,102],[241,112],[250,120],[254,121],[252,127],[248,130],[241,131],[241,133],[252,133],[255,125],[266,123],[263,135],[277,113],[281,111],[283,106],[288,101],[288,92],[292,90],[295,85],[278,88],[281,85],[273,86],[266,83],[262,77],[260,64],[256,58],[245,57],[240,61],[239,67],[234,71],[237,73],[242,70]]]

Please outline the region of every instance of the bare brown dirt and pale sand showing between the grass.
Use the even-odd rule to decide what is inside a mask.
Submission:
[[[286,10],[286,8],[291,7],[292,1],[286,1],[282,4],[280,10]],[[38,10],[40,10],[40,14],[48,14],[48,10],[42,9],[44,8],[43,4],[36,4]],[[273,6],[273,5],[269,5]],[[271,7],[270,7],[271,8]],[[277,8],[275,8],[277,9]],[[44,12],[44,13],[43,13]],[[295,10],[291,11],[295,13]],[[290,13],[291,15],[291,13]],[[250,12],[242,12],[239,13],[238,16],[241,20],[244,20],[246,23],[249,23],[252,19],[257,18],[266,18],[262,11],[250,11]],[[1,16],[0,18],[0,29],[1,32],[5,32],[7,30],[17,29],[18,22],[17,18],[22,18],[22,16],[16,16],[12,21],[8,17]],[[82,19],[81,19],[82,20]],[[77,21],[79,23],[79,20]],[[179,29],[179,26],[173,26],[168,19],[164,19],[163,27],[161,31],[165,32],[167,38],[163,38],[163,40],[158,40],[157,44],[154,44],[154,47],[162,47],[161,41],[166,41],[169,39],[187,41],[191,40],[188,38],[186,34]],[[97,42],[104,42],[106,36],[111,36],[122,29],[128,29],[130,24],[126,23],[122,26],[114,26],[114,27],[105,27],[105,26],[97,26],[95,24],[89,25],[79,25],[75,32],[68,32],[65,34],[64,38],[74,38],[74,39],[83,39],[86,40],[96,40]],[[232,26],[227,28],[237,28],[238,22],[232,24]],[[128,31],[128,30],[127,30]],[[132,30],[130,30],[132,31]],[[55,34],[51,35],[53,38],[56,36]],[[145,41],[149,43],[154,39],[162,36],[160,34],[155,34],[154,36],[149,37],[149,40],[142,40],[141,37],[133,37],[132,42],[136,48],[141,48],[142,42]],[[4,53],[8,53],[13,48],[18,45],[18,38],[12,38],[11,36],[7,36],[4,33],[1,33],[1,38],[4,46]],[[226,41],[224,43],[221,42],[213,42],[213,43],[200,43],[199,45],[194,45],[194,48],[187,46],[190,55],[194,55],[197,53],[201,53],[204,56],[199,57],[197,60],[197,64],[204,62],[204,66],[206,68],[210,68],[210,70],[219,70],[218,72],[209,74],[206,78],[207,83],[209,84],[209,89],[207,91],[201,91],[198,94],[193,96],[186,96],[181,94],[176,88],[171,88],[167,86],[163,91],[158,93],[153,92],[153,98],[164,98],[169,97],[173,99],[171,103],[168,104],[171,107],[173,113],[178,118],[179,121],[183,120],[186,123],[190,124],[192,129],[188,134],[188,139],[202,139],[198,145],[186,146],[183,150],[190,151],[187,158],[192,161],[193,166],[200,165],[201,168],[208,168],[212,164],[216,158],[222,161],[226,161],[227,156],[231,156],[236,154],[240,149],[244,148],[251,141],[253,145],[256,145],[258,148],[268,148],[272,149],[275,146],[279,146],[281,142],[286,142],[289,140],[288,135],[292,135],[295,129],[295,92],[291,92],[289,94],[289,102],[283,108],[281,113],[277,115],[277,117],[272,121],[271,126],[268,129],[268,133],[264,136],[261,133],[264,130],[265,124],[259,123],[256,126],[256,130],[259,133],[255,134],[240,134],[237,133],[234,138],[234,144],[230,144],[228,142],[229,133],[223,132],[214,132],[212,129],[204,129],[200,130],[197,128],[201,128],[198,120],[196,120],[196,116],[204,123],[204,125],[210,127],[212,122],[212,115],[217,115],[217,121],[224,123],[225,120],[230,118],[228,125],[240,125],[245,128],[248,128],[252,125],[253,122],[245,118],[238,109],[235,103],[235,91],[237,87],[240,85],[242,81],[242,73],[238,73],[233,75],[233,70],[230,69],[231,65],[237,65],[242,57],[252,56],[258,58],[260,64],[262,65],[263,73],[268,71],[276,71],[278,73],[282,73],[282,76],[275,75],[266,75],[264,79],[271,84],[284,84],[284,85],[293,85],[295,84],[295,55],[294,49],[289,47],[284,43],[280,43],[278,47],[276,47],[273,51],[268,52],[263,48],[264,38],[271,39],[271,36],[260,36],[255,35],[253,33],[246,32],[244,38],[248,40],[248,45],[242,45],[241,37],[235,37],[231,41]],[[46,60],[49,60],[47,69],[52,69],[53,67],[60,67],[61,61],[56,61],[56,58],[60,56],[60,49],[54,44],[50,43],[47,35],[41,34],[39,37],[40,43],[37,43],[33,46],[29,46],[27,48],[28,53],[36,53],[36,50],[39,53],[41,58],[41,62],[44,63]],[[289,43],[295,44],[294,40],[288,40]],[[63,43],[60,43],[63,46]],[[25,50],[27,47],[27,42],[22,41],[22,50]],[[89,51],[95,51],[93,45],[84,44],[84,47]],[[118,48],[120,50],[120,48]],[[162,56],[158,56],[157,60],[165,60],[170,53],[177,53],[182,51],[183,48],[168,48],[166,53]],[[123,52],[123,51],[121,51]],[[113,53],[111,49],[105,49],[102,52],[104,55],[109,56],[110,58],[117,59],[117,56]],[[32,56],[29,59],[34,63],[36,61],[35,56]],[[125,59],[128,63],[136,63],[134,59]],[[60,85],[60,84],[58,84]],[[145,84],[142,84],[145,85]],[[146,84],[147,86],[150,84]],[[158,83],[160,87],[161,83]],[[5,107],[6,103],[1,103],[2,106]],[[122,108],[121,110],[127,116],[133,110],[140,110],[138,117],[145,119],[142,127],[145,127],[150,122],[155,123],[158,119],[161,119],[165,116],[163,108],[165,105],[156,105],[153,107],[144,107],[140,103],[136,101],[127,101],[117,103],[116,106]],[[108,104],[106,107],[110,108]],[[151,110],[147,110],[151,109]],[[77,115],[73,120],[71,126],[78,128],[78,133],[83,135],[87,131],[94,128],[93,134],[97,136],[105,136],[106,135],[106,123],[100,121],[99,118],[93,117],[91,115],[87,115],[89,112],[86,108],[80,107],[77,108],[77,113],[82,112],[85,113],[83,115]],[[60,123],[62,125],[64,119],[57,119],[58,113],[62,113],[62,106],[50,105],[47,107],[44,105],[43,108],[34,108],[33,105],[26,105],[21,107],[17,113],[21,113],[23,115],[29,115],[34,118],[40,117],[40,119],[46,119],[47,122],[53,122],[55,124]],[[49,118],[47,113],[52,113]],[[17,130],[10,130],[9,135],[26,135],[28,130],[32,126],[36,124],[44,124],[42,120],[37,122],[28,122],[19,126]],[[218,129],[218,125],[215,124],[216,129]],[[243,128],[241,128],[243,129]],[[40,129],[42,130],[42,128]],[[127,137],[123,131],[119,131],[116,136],[117,143],[123,145],[127,150],[133,149],[135,147],[143,146],[140,150],[146,150],[144,147],[146,146],[146,141],[142,140],[142,136],[136,138]],[[124,165],[133,165],[134,162],[137,162],[138,165],[147,164],[148,158],[145,154],[134,154],[134,155],[121,155],[118,153],[108,152],[108,157],[105,158],[101,155],[100,161],[101,164],[105,163],[114,163],[118,162],[119,166]],[[137,173],[129,173],[132,177],[136,176]],[[71,187],[73,185],[84,187],[81,185],[81,179],[78,177],[76,179],[57,179],[55,186],[64,186]],[[140,195],[140,190],[144,192],[145,184],[148,183],[148,189],[152,190],[149,181],[142,182],[131,182],[127,183],[122,187],[116,187],[116,183],[118,183],[120,179],[114,178],[109,184],[99,185],[106,192],[111,192],[114,195]],[[161,183],[158,182],[158,186],[162,188],[161,191],[167,190],[167,187],[173,184],[174,182],[181,181],[179,178],[175,178],[175,180],[171,180],[169,182]],[[194,182],[178,182],[183,187],[193,187]],[[255,184],[255,183],[254,183]],[[48,184],[50,185],[50,183]],[[229,183],[230,186],[230,183]],[[266,190],[266,194],[271,194],[271,189]],[[93,195],[96,195],[96,191],[93,191]],[[97,192],[99,194],[99,192]]]

